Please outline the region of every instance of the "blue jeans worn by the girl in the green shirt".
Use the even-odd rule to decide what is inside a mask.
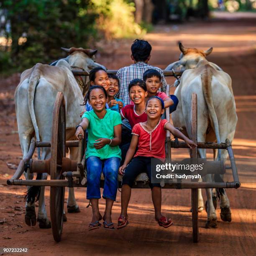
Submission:
[[[100,176],[103,172],[105,183],[103,198],[115,201],[118,189],[118,168],[120,166],[119,157],[110,157],[101,160],[97,156],[89,156],[87,164],[87,199],[101,198],[100,196]]]

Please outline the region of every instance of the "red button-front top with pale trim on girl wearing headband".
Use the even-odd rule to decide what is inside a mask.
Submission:
[[[165,159],[165,139],[166,130],[164,129],[168,121],[159,120],[159,123],[152,131],[147,131],[142,123],[134,125],[132,134],[138,135],[138,150],[135,156],[148,156],[161,160]]]

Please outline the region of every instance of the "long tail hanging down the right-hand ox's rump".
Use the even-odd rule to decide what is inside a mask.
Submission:
[[[202,90],[205,97],[205,102],[208,107],[208,114],[210,118],[210,123],[215,131],[215,136],[217,138],[217,143],[220,143],[220,131],[218,118],[215,112],[215,108],[212,100],[212,67],[209,64],[205,64],[202,75]],[[218,149],[218,159],[220,160],[220,149]]]

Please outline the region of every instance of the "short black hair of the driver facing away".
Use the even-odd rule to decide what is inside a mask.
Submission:
[[[146,61],[151,50],[151,45],[143,39],[135,39],[131,45],[131,52],[136,61]]]

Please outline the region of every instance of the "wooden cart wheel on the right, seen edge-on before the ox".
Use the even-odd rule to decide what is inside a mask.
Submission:
[[[192,94],[191,97],[191,139],[197,143],[197,95]],[[190,157],[197,159],[197,147],[192,148]],[[199,240],[198,229],[198,189],[191,189],[191,202],[192,202],[192,229],[193,229],[193,242],[197,243]]]

